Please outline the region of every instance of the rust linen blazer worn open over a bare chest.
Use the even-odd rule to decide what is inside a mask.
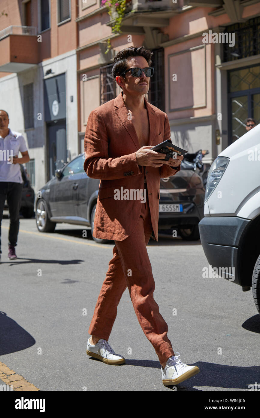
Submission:
[[[149,143],[157,145],[170,139],[171,130],[166,113],[144,98],[149,118]],[[141,214],[140,200],[115,200],[115,189],[142,189],[147,181],[152,238],[158,241],[160,178],[173,176],[178,168],[170,166],[139,166],[136,151],[141,148],[134,124],[128,116],[122,92],[92,110],[84,138],[84,170],[88,177],[100,179],[93,236],[122,241],[133,231]]]

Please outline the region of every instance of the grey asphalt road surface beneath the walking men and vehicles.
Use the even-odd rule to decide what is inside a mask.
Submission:
[[[43,234],[35,219],[21,219],[18,259],[11,262],[8,224],[3,219],[0,361],[40,390],[171,391],[162,384],[158,357],[127,289],[109,339],[126,364],[111,366],[86,355],[88,327],[113,245],[96,244],[90,231],[83,238],[84,227],[78,225],[58,224],[54,233]],[[260,383],[260,315],[252,291],[242,292],[222,278],[203,278],[208,263],[200,241],[160,236],[147,250],[154,298],[174,352],[200,368],[177,390],[247,391]]]

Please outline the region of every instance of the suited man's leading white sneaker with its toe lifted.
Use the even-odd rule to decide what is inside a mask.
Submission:
[[[162,382],[164,386],[178,385],[178,383],[183,382],[200,372],[199,367],[187,366],[187,364],[182,363],[181,360],[178,359],[180,354],[177,354],[177,356],[169,358],[164,369],[161,366]]]

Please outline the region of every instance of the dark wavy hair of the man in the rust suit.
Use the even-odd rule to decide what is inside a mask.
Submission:
[[[124,71],[128,69],[127,59],[132,56],[143,56],[148,62],[148,66],[151,66],[152,52],[144,46],[129,46],[129,48],[122,49],[114,57],[114,65],[112,68],[112,75],[116,80],[116,76],[120,76]],[[122,88],[122,87],[121,87]]]

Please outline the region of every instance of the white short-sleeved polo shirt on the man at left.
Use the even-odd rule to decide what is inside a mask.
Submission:
[[[0,181],[23,183],[20,164],[10,164],[10,161],[7,161],[12,155],[19,157],[19,151],[27,151],[25,139],[19,132],[12,132],[9,128],[9,134],[5,138],[0,135]]]

